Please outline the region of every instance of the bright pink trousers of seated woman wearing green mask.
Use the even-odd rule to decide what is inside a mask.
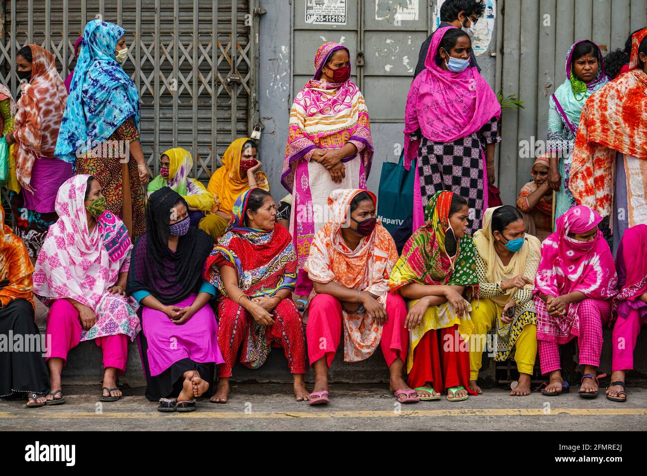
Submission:
[[[50,338],[50,356],[67,363],[67,352],[81,340],[81,321],[78,310],[66,299],[56,299],[47,314],[47,336]],[[128,336],[116,334],[94,339],[104,354],[104,369],[115,367],[119,375],[126,372],[128,359]]]

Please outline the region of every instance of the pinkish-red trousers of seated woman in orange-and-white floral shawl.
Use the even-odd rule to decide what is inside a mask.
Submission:
[[[389,294],[386,298],[386,315],[388,321],[382,325],[380,347],[384,360],[389,367],[400,357],[406,360],[409,346],[409,332],[404,329],[406,306],[399,294]],[[308,360],[310,365],[326,357],[328,367],[333,362],[334,354],[342,340],[342,305],[329,294],[317,294],[309,305],[308,323],[305,335],[308,342]],[[321,348],[321,338],[325,345]]]

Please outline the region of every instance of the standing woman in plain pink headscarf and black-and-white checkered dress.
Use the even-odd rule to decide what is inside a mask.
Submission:
[[[424,225],[424,207],[442,190],[467,200],[468,233],[481,228],[487,208],[484,190],[494,184],[501,106],[476,67],[470,67],[471,51],[463,30],[439,28],[426,69],[411,83],[404,116],[404,164],[410,168],[411,160],[418,159],[413,231]]]

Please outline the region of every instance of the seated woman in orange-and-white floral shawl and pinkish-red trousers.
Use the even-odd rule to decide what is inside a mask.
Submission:
[[[378,345],[399,402],[417,402],[404,382],[408,333],[402,297],[389,294],[389,274],[398,259],[395,242],[375,217],[377,199],[362,189],[334,190],[329,221],[314,235],[303,269],[313,281],[307,308],[308,358],[315,372],[310,404],[328,399],[328,368],[344,329],[344,360],[360,362]]]

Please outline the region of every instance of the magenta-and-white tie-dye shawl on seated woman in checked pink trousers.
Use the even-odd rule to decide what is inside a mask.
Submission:
[[[590,299],[608,300],[617,294],[618,276],[609,245],[598,230],[595,240],[577,241],[568,233],[584,233],[602,221],[597,211],[575,206],[557,219],[557,231],[542,243],[542,261],[534,281],[534,292],[563,296],[579,291]],[[565,343],[578,335],[578,305],[571,304],[564,316],[539,313],[537,338]],[[575,332],[573,332],[575,330]]]

